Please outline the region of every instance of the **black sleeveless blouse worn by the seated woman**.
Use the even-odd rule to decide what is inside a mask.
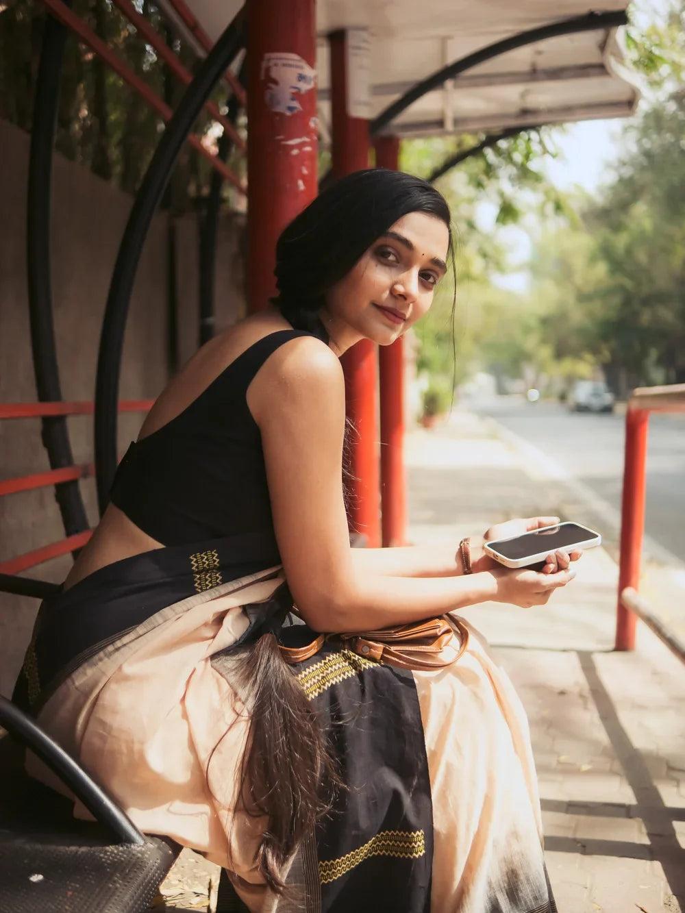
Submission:
[[[282,330],[258,340],[182,413],[132,443],[112,504],[163,545],[248,535],[278,561],[261,436],[246,394],[269,355],[309,335]]]

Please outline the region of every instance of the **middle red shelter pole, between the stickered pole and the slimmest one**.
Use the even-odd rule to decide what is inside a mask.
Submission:
[[[334,32],[330,42],[332,173],[338,178],[368,168],[369,128],[364,118],[348,113],[345,32]],[[356,429],[350,441],[350,524],[372,548],[381,544],[376,350],[373,342],[362,340],[342,356],[347,415]]]

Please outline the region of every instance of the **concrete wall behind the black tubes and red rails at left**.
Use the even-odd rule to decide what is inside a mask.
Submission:
[[[26,177],[29,137],[0,121],[0,402],[37,400],[26,293]],[[100,323],[121,234],[132,205],[122,194],[75,163],[56,155],[53,169],[52,292],[62,396],[92,400]],[[219,226],[216,320],[222,329],[244,308],[243,216]],[[197,348],[197,223],[175,221],[179,300],[178,350],[183,364]],[[167,234],[155,215],[142,251],[126,329],[121,399],[153,398],[168,370]],[[138,433],[142,415],[121,415],[120,453]],[[92,460],[92,419],[68,419],[76,463]],[[0,420],[0,478],[49,468],[37,419]],[[95,484],[81,483],[91,524],[97,522]],[[0,498],[0,561],[64,538],[53,488]],[[59,582],[70,558],[48,561],[27,576]],[[13,686],[28,642],[37,601],[0,593],[0,693]]]

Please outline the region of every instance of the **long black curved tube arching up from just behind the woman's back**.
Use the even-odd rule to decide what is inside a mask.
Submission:
[[[244,41],[244,12],[241,9],[203,61],[168,122],[142,180],[121,239],[102,321],[95,387],[95,470],[100,513],[107,506],[111,481],[117,467],[117,401],[121,352],[133,279],[142,245],[154,210],[195,118],[237,52],[244,47]]]

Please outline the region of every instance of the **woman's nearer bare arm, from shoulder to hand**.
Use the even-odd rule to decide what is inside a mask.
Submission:
[[[342,497],[342,367],[321,341],[302,337],[275,352],[250,384],[248,405],[261,432],[290,592],[311,627],[405,624],[505,596],[521,602],[540,593],[543,601],[570,579],[565,572],[382,576],[368,561],[364,567],[349,545]]]

